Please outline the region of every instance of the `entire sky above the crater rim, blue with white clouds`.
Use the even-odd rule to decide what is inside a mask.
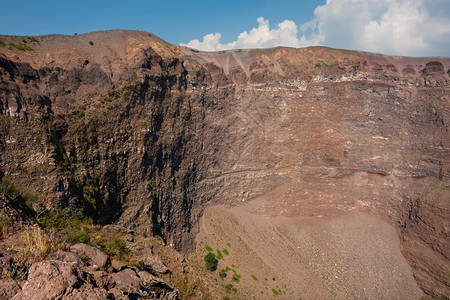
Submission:
[[[0,34],[153,32],[202,50],[304,47],[450,56],[449,0],[2,0]]]

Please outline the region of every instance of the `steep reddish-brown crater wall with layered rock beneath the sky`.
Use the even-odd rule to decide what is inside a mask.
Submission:
[[[0,175],[39,193],[36,211],[81,208],[188,253],[212,204],[359,210],[398,228],[422,289],[448,290],[449,58],[1,38]]]

